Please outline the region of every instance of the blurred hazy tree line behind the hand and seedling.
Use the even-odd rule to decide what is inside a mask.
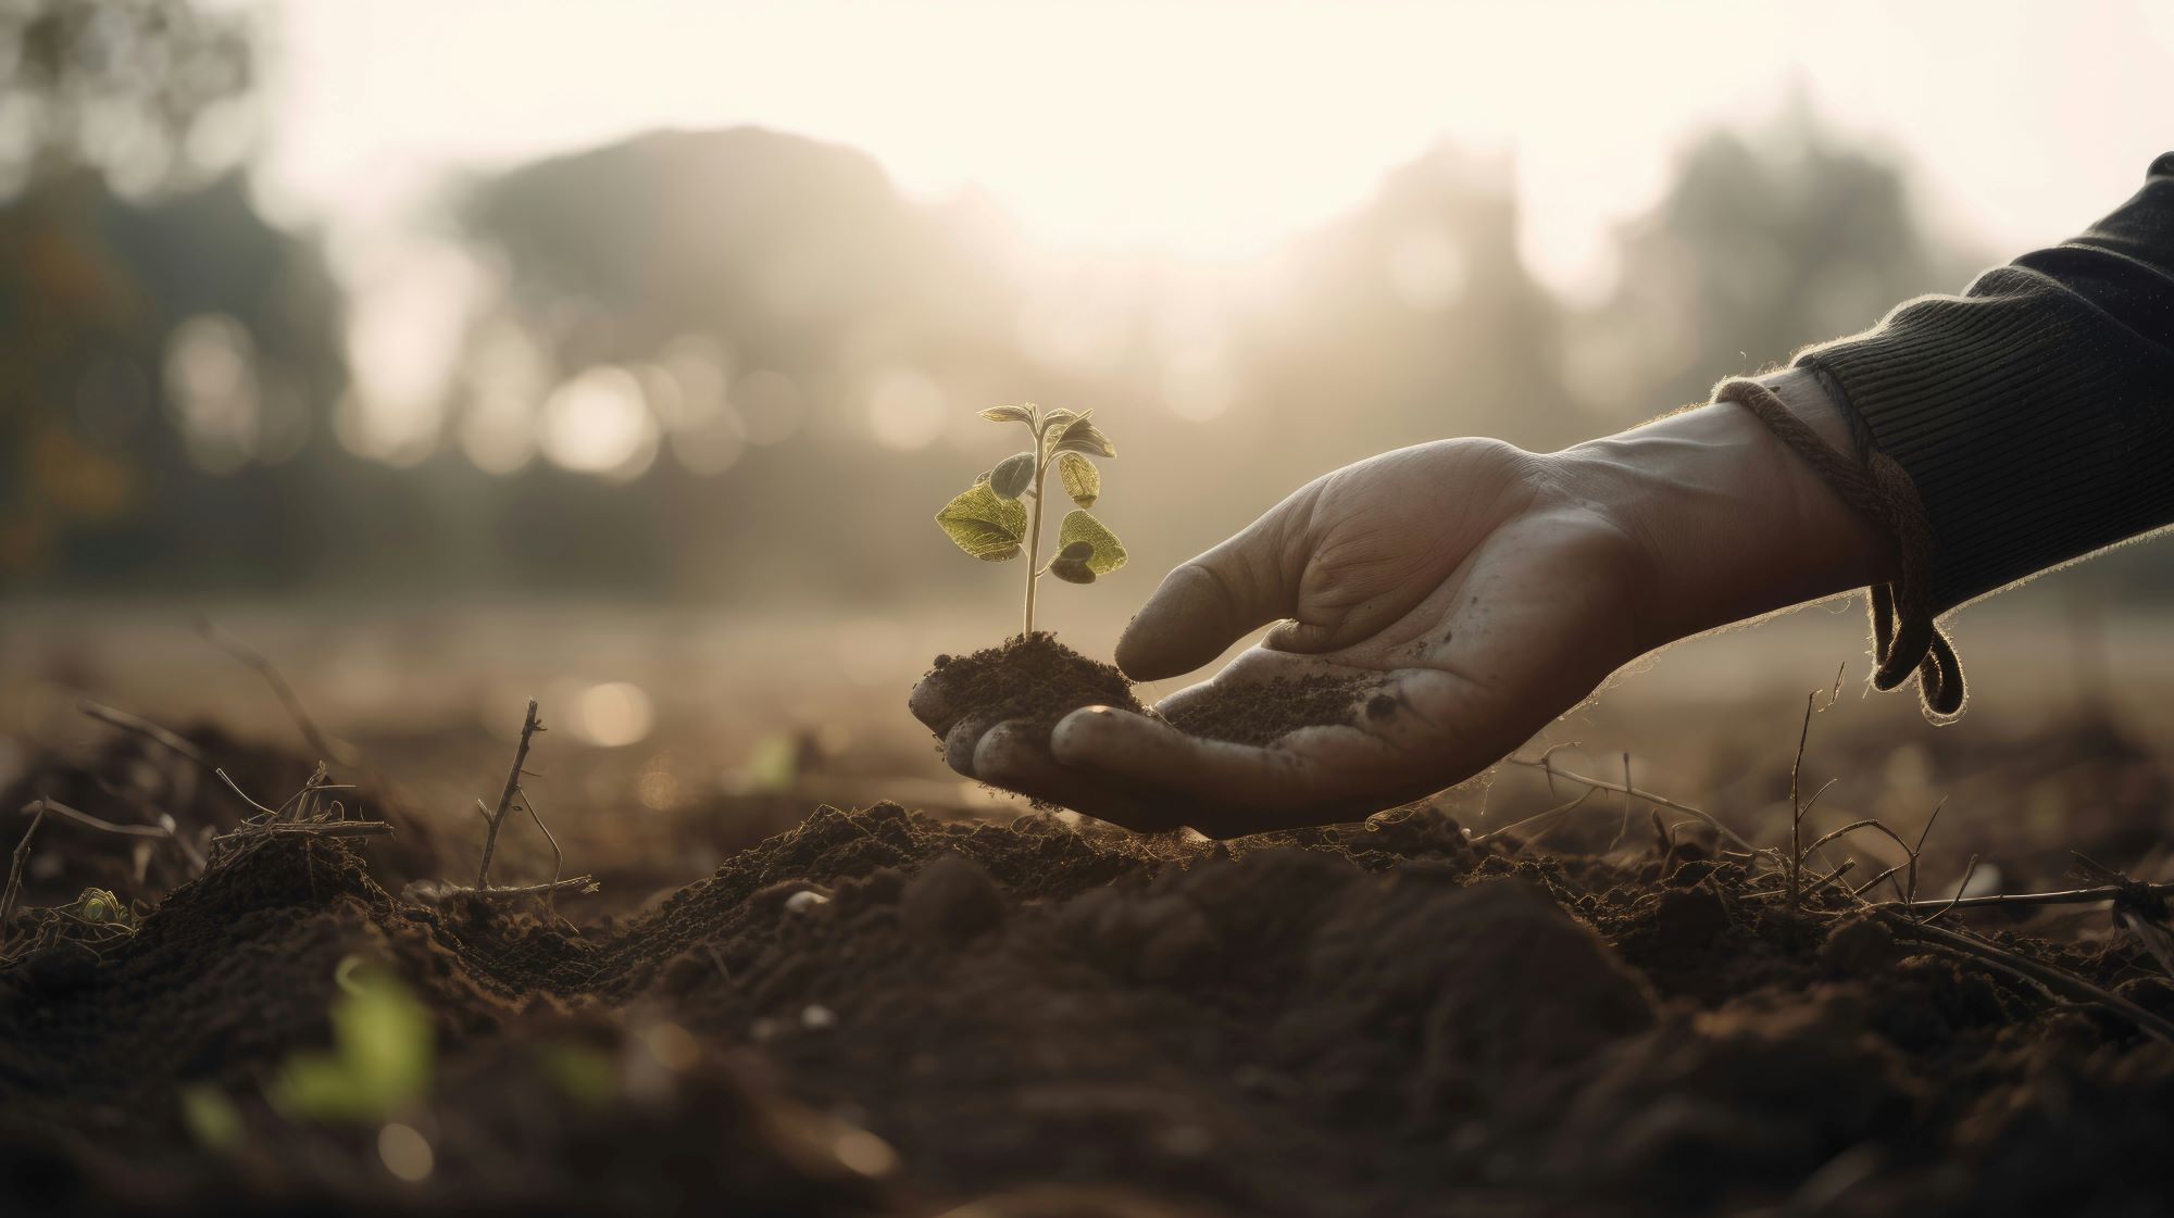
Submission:
[[[1687,141],[1596,300],[1520,261],[1502,154],[1437,146],[1265,257],[1187,263],[1026,250],[972,196],[752,126],[472,172],[357,285],[252,202],[250,11],[0,24],[17,592],[948,596],[985,572],[898,522],[1000,457],[978,407],[1024,398],[1109,420],[1152,566],[1337,463],[1570,444],[1991,261],[1796,104]]]

